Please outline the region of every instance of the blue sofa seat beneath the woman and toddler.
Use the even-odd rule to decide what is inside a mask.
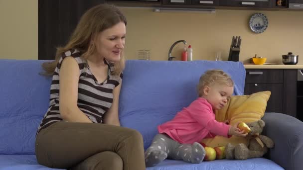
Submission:
[[[38,165],[34,155],[0,155],[0,170],[59,170]],[[165,160],[146,170],[284,170],[264,158],[245,161],[216,160],[191,164],[183,161]]]

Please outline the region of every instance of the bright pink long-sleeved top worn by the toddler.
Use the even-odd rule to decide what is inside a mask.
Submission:
[[[215,120],[210,103],[199,97],[178,112],[171,121],[159,125],[158,131],[181,144],[192,144],[216,135],[229,137],[229,128],[230,125]]]

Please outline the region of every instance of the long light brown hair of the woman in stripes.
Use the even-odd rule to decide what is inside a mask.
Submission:
[[[90,45],[91,39],[97,36],[99,32],[111,28],[119,22],[127,24],[125,15],[115,5],[99,4],[87,10],[80,18],[74,32],[72,33],[68,43],[64,47],[58,47],[55,60],[45,62],[42,67],[45,71],[44,75],[52,75],[57,67],[61,55],[71,49],[77,49],[81,53],[81,57],[85,60],[96,52],[94,44]],[[119,75],[125,67],[125,59],[123,51],[121,52],[120,61],[112,62],[115,67],[113,75]]]

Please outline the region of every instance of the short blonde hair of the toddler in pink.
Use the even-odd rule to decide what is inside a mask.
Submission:
[[[220,84],[220,85],[228,85],[228,86],[234,86],[234,82],[231,79],[231,77],[225,73],[222,70],[208,70],[206,71],[199,80],[198,84],[198,93],[199,96],[203,95],[203,88],[208,85],[214,85],[214,84]]]

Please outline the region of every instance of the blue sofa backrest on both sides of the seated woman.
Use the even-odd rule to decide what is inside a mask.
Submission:
[[[39,60],[0,60],[0,154],[34,154],[38,125],[48,108],[51,78],[39,75]],[[156,126],[197,97],[199,77],[222,69],[243,94],[245,69],[239,62],[129,60],[120,94],[121,125],[140,131],[147,148]]]

